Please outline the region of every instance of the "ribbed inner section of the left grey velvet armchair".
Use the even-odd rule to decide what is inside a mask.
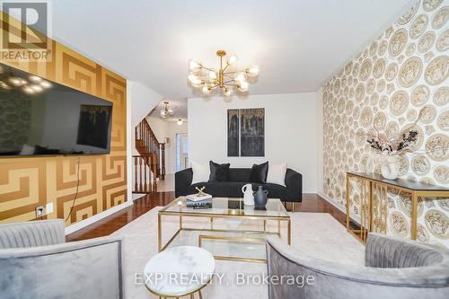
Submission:
[[[54,245],[66,242],[64,219],[0,224],[0,249]]]

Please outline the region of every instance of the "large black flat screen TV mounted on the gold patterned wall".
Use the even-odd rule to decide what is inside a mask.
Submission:
[[[109,154],[112,103],[0,64],[0,155]]]

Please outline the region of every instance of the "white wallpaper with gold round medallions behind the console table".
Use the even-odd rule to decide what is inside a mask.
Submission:
[[[449,1],[418,1],[322,86],[324,192],[346,207],[346,172],[375,171],[363,134],[389,136],[418,118],[416,153],[401,157],[401,177],[449,186]],[[350,213],[360,215],[351,180]],[[409,194],[388,189],[387,233],[409,237]],[[418,240],[449,247],[449,198],[418,199]]]

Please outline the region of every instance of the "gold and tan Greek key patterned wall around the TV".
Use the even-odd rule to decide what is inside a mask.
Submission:
[[[17,23],[10,23],[10,32],[20,34]],[[110,154],[0,159],[0,223],[35,219],[35,207],[48,203],[54,212],[44,218],[66,218],[75,196],[78,159],[78,196],[66,225],[127,200],[126,79],[57,41],[51,43],[49,61],[2,63],[112,101]]]

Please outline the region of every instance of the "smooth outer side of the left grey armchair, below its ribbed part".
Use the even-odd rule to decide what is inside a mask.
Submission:
[[[1,298],[124,297],[120,237],[0,250],[0,268]]]

